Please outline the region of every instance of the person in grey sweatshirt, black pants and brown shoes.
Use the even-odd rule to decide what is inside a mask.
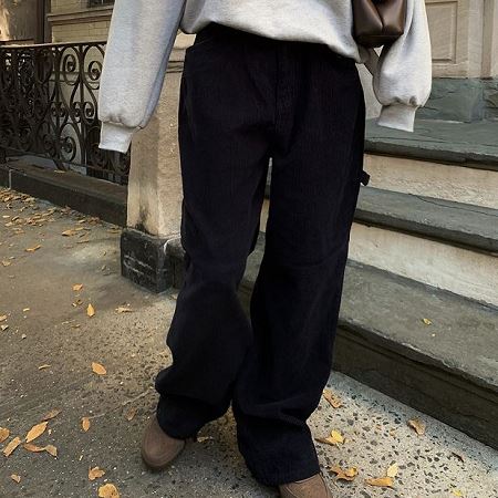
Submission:
[[[413,131],[432,86],[425,3],[380,58],[352,34],[351,0],[116,0],[98,96],[100,147],[126,152],[159,98],[180,29],[178,105],[186,273],[167,335],[156,416],[142,456],[166,467],[230,404],[260,483],[282,497],[330,497],[307,419],[332,362],[350,230],[363,170],[369,64],[377,123]],[[375,63],[373,63],[375,62]],[[271,158],[264,255],[256,247]]]

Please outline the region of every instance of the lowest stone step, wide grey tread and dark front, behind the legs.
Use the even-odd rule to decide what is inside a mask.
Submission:
[[[263,249],[261,232],[239,288],[246,311]],[[167,253],[180,288],[179,240]],[[350,260],[334,369],[498,448],[497,332],[496,307]]]

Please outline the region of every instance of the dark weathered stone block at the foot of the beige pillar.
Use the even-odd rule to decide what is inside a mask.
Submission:
[[[153,292],[174,284],[174,267],[166,257],[167,239],[125,228],[121,236],[121,273]]]

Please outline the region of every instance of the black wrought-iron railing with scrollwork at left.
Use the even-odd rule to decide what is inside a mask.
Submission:
[[[127,184],[129,151],[98,148],[104,51],[105,42],[0,45],[0,159],[41,156],[59,169]]]

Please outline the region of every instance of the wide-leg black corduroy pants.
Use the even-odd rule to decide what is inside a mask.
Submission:
[[[211,23],[187,49],[178,110],[186,274],[156,378],[157,418],[195,435],[230,403],[252,475],[320,471],[307,418],[331,371],[363,170],[365,104],[352,59],[324,44]],[[250,302],[237,297],[260,229]],[[366,181],[365,181],[366,179]]]

